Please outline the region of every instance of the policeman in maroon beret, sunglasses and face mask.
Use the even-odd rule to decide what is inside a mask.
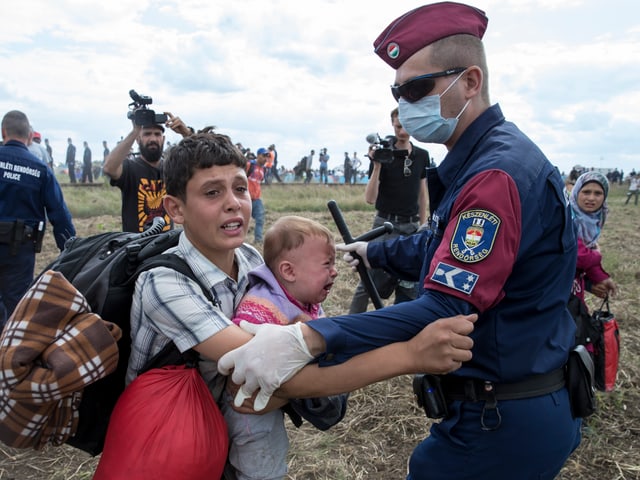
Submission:
[[[442,420],[413,452],[409,479],[552,479],[580,443],[563,373],[575,332],[566,309],[577,249],[571,215],[557,170],[490,104],[486,27],[481,10],[443,2],[399,17],[374,43],[396,70],[402,125],[448,154],[428,171],[428,229],[340,249],[352,265],[356,253],[368,267],[423,281],[422,295],[291,327],[300,332],[291,338],[302,339],[292,348],[315,354],[322,338],[326,365],[410,338],[439,317],[478,313],[473,358],[414,381],[428,413]],[[234,377],[247,384],[280,367],[241,365],[252,343],[264,347],[260,337],[234,359],[243,367]]]

